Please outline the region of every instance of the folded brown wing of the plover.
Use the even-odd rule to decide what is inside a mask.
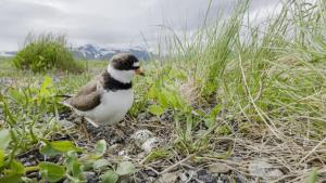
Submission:
[[[102,93],[98,87],[100,84],[99,79],[101,79],[101,76],[98,76],[96,79],[89,81],[75,96],[68,99],[66,102],[72,107],[82,112],[90,110],[98,106],[101,102]]]

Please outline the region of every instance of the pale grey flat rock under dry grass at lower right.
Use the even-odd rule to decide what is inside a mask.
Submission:
[[[264,159],[253,160],[249,165],[249,172],[252,177],[260,177],[265,180],[273,180],[284,175],[279,169]]]

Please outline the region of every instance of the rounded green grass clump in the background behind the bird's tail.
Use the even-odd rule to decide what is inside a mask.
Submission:
[[[13,58],[18,69],[30,69],[34,73],[45,73],[51,69],[80,71],[82,67],[74,60],[65,36],[43,34],[35,38],[26,37],[25,45]]]

